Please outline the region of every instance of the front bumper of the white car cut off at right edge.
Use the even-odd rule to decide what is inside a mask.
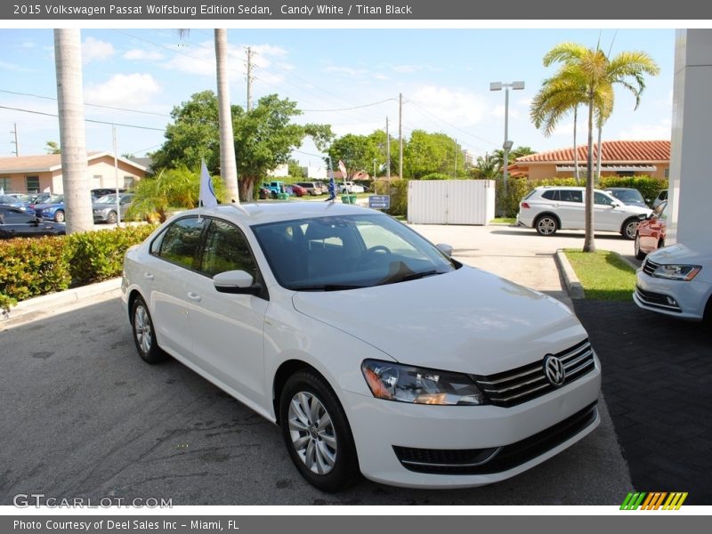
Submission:
[[[637,271],[633,300],[644,310],[679,319],[702,320],[710,290],[708,284],[697,280],[659,279]]]

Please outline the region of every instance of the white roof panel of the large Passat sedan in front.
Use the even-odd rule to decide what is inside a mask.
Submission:
[[[249,204],[223,204],[221,206],[199,208],[202,215],[217,215],[232,219],[248,226],[278,221],[291,221],[305,217],[327,217],[331,215],[377,214],[376,210],[366,207],[342,204],[340,202],[255,202]],[[183,212],[181,215],[198,214],[198,208]]]

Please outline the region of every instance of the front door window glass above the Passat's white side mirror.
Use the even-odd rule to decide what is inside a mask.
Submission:
[[[246,271],[256,278],[257,264],[239,228],[224,221],[211,221],[200,271],[211,278],[224,271]]]

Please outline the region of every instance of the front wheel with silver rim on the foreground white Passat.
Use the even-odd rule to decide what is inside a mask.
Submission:
[[[309,409],[303,410],[303,406]],[[315,413],[317,419],[313,420]],[[312,486],[333,493],[360,478],[346,414],[320,375],[303,370],[287,379],[279,396],[279,421],[289,457]]]

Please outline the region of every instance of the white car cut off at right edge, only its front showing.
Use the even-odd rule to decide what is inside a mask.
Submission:
[[[635,303],[645,310],[712,328],[712,252],[681,243],[647,255],[635,273]]]

